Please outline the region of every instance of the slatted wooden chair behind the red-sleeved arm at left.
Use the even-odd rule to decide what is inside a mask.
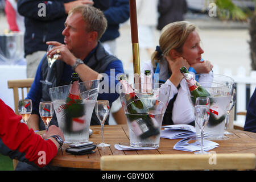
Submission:
[[[28,91],[30,90],[30,87],[32,85],[32,82],[34,81],[34,78],[27,78],[23,80],[8,80],[8,88],[13,89],[13,95],[14,95],[14,111],[16,114],[19,114],[18,112],[18,101],[19,99],[24,99],[26,96],[24,96],[24,89]],[[19,97],[19,88],[22,90],[21,97]],[[15,169],[18,164],[18,160],[13,160],[13,168]]]

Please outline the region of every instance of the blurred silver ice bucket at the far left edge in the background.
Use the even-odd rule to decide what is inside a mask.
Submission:
[[[0,64],[14,64],[24,57],[24,34],[0,34]]]

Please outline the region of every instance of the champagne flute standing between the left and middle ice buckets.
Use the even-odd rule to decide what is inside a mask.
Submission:
[[[106,121],[106,118],[109,115],[109,101],[107,100],[96,101],[95,113],[97,115],[98,120],[100,120],[101,122],[101,137],[102,137],[102,142],[98,144],[97,147],[109,147],[110,144],[104,143],[104,123]]]

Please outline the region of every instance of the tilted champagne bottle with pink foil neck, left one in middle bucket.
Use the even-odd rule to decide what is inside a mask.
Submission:
[[[131,127],[134,133],[142,138],[146,139],[151,136],[159,134],[158,123],[153,115],[150,115],[146,105],[142,100],[139,100],[134,89],[129,85],[122,77],[119,78],[119,82],[122,84],[123,93],[126,100],[126,116],[131,122]],[[122,103],[123,105],[124,103]]]

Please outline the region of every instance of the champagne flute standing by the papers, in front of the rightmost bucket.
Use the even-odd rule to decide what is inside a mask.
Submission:
[[[209,154],[204,151],[204,127],[207,125],[210,117],[210,100],[208,97],[197,97],[195,104],[195,121],[199,125],[201,131],[201,151],[195,152],[195,154]]]

